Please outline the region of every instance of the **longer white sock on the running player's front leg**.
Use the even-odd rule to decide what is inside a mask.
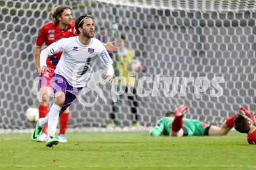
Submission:
[[[61,111],[61,107],[56,104],[52,104],[51,110],[48,113],[48,136],[55,136],[59,120],[59,111]]]

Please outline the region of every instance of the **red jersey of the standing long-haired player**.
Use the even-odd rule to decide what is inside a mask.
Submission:
[[[59,39],[73,37],[74,35],[76,35],[74,21],[72,21],[72,23],[69,26],[67,26],[65,30],[61,30],[61,28],[59,28],[58,25],[55,25],[53,22],[50,22],[42,26],[35,45],[42,46],[42,44],[45,43],[46,46],[49,46],[50,44]],[[62,52],[58,52],[55,55],[48,56],[47,67],[55,70],[61,55]]]

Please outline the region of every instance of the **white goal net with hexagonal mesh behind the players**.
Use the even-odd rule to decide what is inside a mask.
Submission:
[[[112,86],[101,85],[106,102],[98,97],[86,107],[76,100],[70,106],[70,128],[106,127],[113,115],[120,126],[131,126],[136,119],[141,126],[152,126],[184,103],[187,118],[213,125],[241,104],[256,109],[255,1],[0,0],[0,129],[33,127],[24,113],[38,106],[31,90],[37,77],[34,44],[58,4],[69,5],[73,17],[92,15],[95,34],[106,28],[108,41],[125,35],[127,49],[147,66],[136,74],[135,87],[140,91],[137,85],[144,82],[142,94],[150,92],[133,100],[125,93],[112,103]],[[122,58],[114,54],[113,60],[120,73]],[[95,70],[102,68],[98,63]],[[90,91],[84,100],[93,102],[97,96]]]

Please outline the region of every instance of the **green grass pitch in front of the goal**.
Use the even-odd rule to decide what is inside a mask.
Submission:
[[[0,135],[0,169],[255,169],[246,135],[150,137],[148,132],[67,133],[47,148],[30,134]],[[54,159],[56,161],[54,161]]]

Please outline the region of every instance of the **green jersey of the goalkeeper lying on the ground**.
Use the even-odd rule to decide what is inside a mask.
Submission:
[[[170,135],[172,129],[172,121],[174,117],[162,117],[157,125],[151,130],[151,136]],[[203,136],[205,132],[205,124],[198,120],[183,118],[182,128],[187,129],[187,136]]]

